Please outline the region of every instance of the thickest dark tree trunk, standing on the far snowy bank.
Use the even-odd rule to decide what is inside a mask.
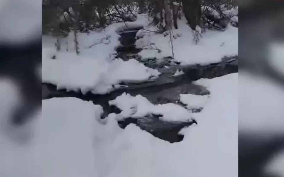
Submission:
[[[201,4],[199,0],[182,0],[183,13],[192,30],[201,26]]]

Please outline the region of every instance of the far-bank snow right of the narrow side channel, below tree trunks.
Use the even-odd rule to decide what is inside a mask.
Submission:
[[[238,28],[232,27],[230,24],[224,32],[208,30],[203,33],[198,44],[193,41],[192,30],[185,21],[178,21],[178,27],[178,30],[173,30],[173,34],[178,36],[173,39],[173,50],[174,59],[181,62],[181,65],[206,65],[220,62],[224,56],[238,55]],[[141,33],[143,33],[142,30],[138,33],[139,37],[143,36]],[[224,45],[222,45],[223,43]],[[142,60],[172,57],[170,37],[163,34],[148,32],[138,39],[135,45],[137,48],[143,49],[138,53]],[[161,52],[149,50],[149,48],[157,48]]]

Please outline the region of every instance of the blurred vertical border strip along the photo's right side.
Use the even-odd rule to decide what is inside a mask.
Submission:
[[[284,176],[284,4],[239,5],[239,176]]]

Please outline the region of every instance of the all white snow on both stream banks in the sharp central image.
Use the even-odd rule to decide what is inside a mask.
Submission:
[[[147,23],[148,20],[140,16],[138,21],[128,24],[152,29],[146,27]],[[208,31],[196,45],[190,27],[182,20],[178,23],[179,29],[173,31],[176,61],[208,64],[220,61],[225,55],[237,55],[237,28],[229,26],[225,32]],[[158,77],[157,70],[134,59],[114,59],[122,29],[125,29],[125,24],[117,23],[101,32],[79,33],[80,55],[75,55],[72,47],[68,47],[68,52],[56,52],[55,39],[44,37],[43,82],[53,83],[58,89],[104,94],[121,81],[141,82],[151,76]],[[158,53],[157,50],[144,49],[139,53],[142,59],[172,55],[166,33],[142,34],[141,30],[137,37],[142,37],[137,40],[137,46],[162,50]],[[63,43],[64,40],[73,44],[72,36],[62,39]],[[222,43],[224,45],[220,46]],[[56,55],[55,60],[51,59],[53,55]],[[200,79],[194,83],[207,87],[210,97],[181,94],[180,101],[187,104],[188,109],[203,107],[198,113],[173,103],[154,105],[141,95],[123,93],[109,101],[122,112],[109,114],[101,120],[102,107],[92,102],[76,98],[43,100],[42,117],[35,122],[38,126],[33,147],[40,166],[36,168],[41,172],[38,176],[236,177],[238,73]],[[159,119],[165,121],[188,121],[193,117],[198,125],[181,130],[180,134],[185,135],[183,141],[170,144],[134,124],[124,130],[117,124],[117,120],[147,114],[162,114]]]

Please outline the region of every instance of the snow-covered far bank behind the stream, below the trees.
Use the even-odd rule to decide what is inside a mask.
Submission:
[[[43,36],[42,81],[52,83],[58,89],[105,94],[119,88],[122,81],[154,80],[160,75],[157,70],[134,59],[114,59],[116,48],[120,46],[120,31],[137,27],[151,30],[154,27],[149,23],[146,15],[141,14],[135,22],[127,22],[126,25],[123,22],[114,23],[100,32],[78,33],[80,55],[75,55],[73,35],[61,39],[60,52],[55,51],[54,37]],[[238,54],[238,28],[229,25],[224,32],[209,30],[195,44],[193,32],[184,19],[178,21],[178,26],[179,29],[173,31],[176,38],[173,40],[174,54],[175,60],[183,65],[216,63],[224,56]],[[157,47],[161,50],[143,49],[138,53],[142,60],[172,56],[169,36],[154,32],[142,34],[143,30],[137,34],[142,38],[136,41],[136,47]],[[51,59],[54,55],[55,60]]]

